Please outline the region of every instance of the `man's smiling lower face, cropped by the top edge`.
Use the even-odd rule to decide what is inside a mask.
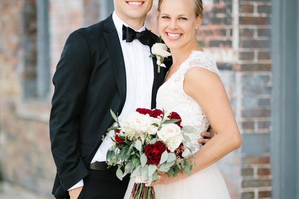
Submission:
[[[114,0],[115,10],[131,19],[145,18],[153,5],[153,0]]]

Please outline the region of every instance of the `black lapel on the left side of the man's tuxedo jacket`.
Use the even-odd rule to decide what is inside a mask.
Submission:
[[[126,101],[126,67],[124,61],[124,55],[121,49],[121,43],[119,41],[118,33],[116,31],[112,15],[104,21],[104,38],[106,40],[108,49],[110,51],[112,65],[114,68],[114,74],[116,78],[117,87],[121,96],[121,103],[124,106]]]

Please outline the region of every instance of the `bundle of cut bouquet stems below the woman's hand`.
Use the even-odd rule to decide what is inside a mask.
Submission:
[[[134,183],[130,199],[156,199],[154,187],[146,187],[145,183]]]

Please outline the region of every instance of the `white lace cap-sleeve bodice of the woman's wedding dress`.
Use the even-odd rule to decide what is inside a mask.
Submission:
[[[160,86],[156,101],[157,109],[164,109],[166,113],[170,111],[177,112],[182,118],[183,126],[190,125],[197,129],[197,132],[188,134],[188,136],[191,139],[191,145],[198,150],[201,146],[198,139],[202,138],[201,132],[208,129],[210,122],[199,104],[183,90],[185,74],[192,67],[205,68],[220,77],[216,60],[211,53],[192,51],[179,69]]]

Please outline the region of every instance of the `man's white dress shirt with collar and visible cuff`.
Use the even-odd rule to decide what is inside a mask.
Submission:
[[[122,25],[129,25],[123,22],[116,15],[115,11],[112,14],[112,19],[121,43],[121,49],[124,55],[126,67],[127,93],[124,108],[122,109],[122,112],[118,117],[119,120],[121,120],[122,118],[125,118],[129,113],[135,111],[137,108],[151,108],[154,69],[153,60],[149,57],[150,48],[146,45],[141,44],[137,39],[133,40],[131,43],[126,43],[126,40],[122,40]],[[135,31],[141,32],[144,30],[145,25],[141,29]],[[106,161],[107,151],[113,144],[111,139],[109,138],[113,135],[113,132],[114,131],[110,131],[108,133],[107,137],[104,139],[101,146],[94,155],[91,163],[95,161]],[[83,179],[70,189],[81,186],[83,186]]]

